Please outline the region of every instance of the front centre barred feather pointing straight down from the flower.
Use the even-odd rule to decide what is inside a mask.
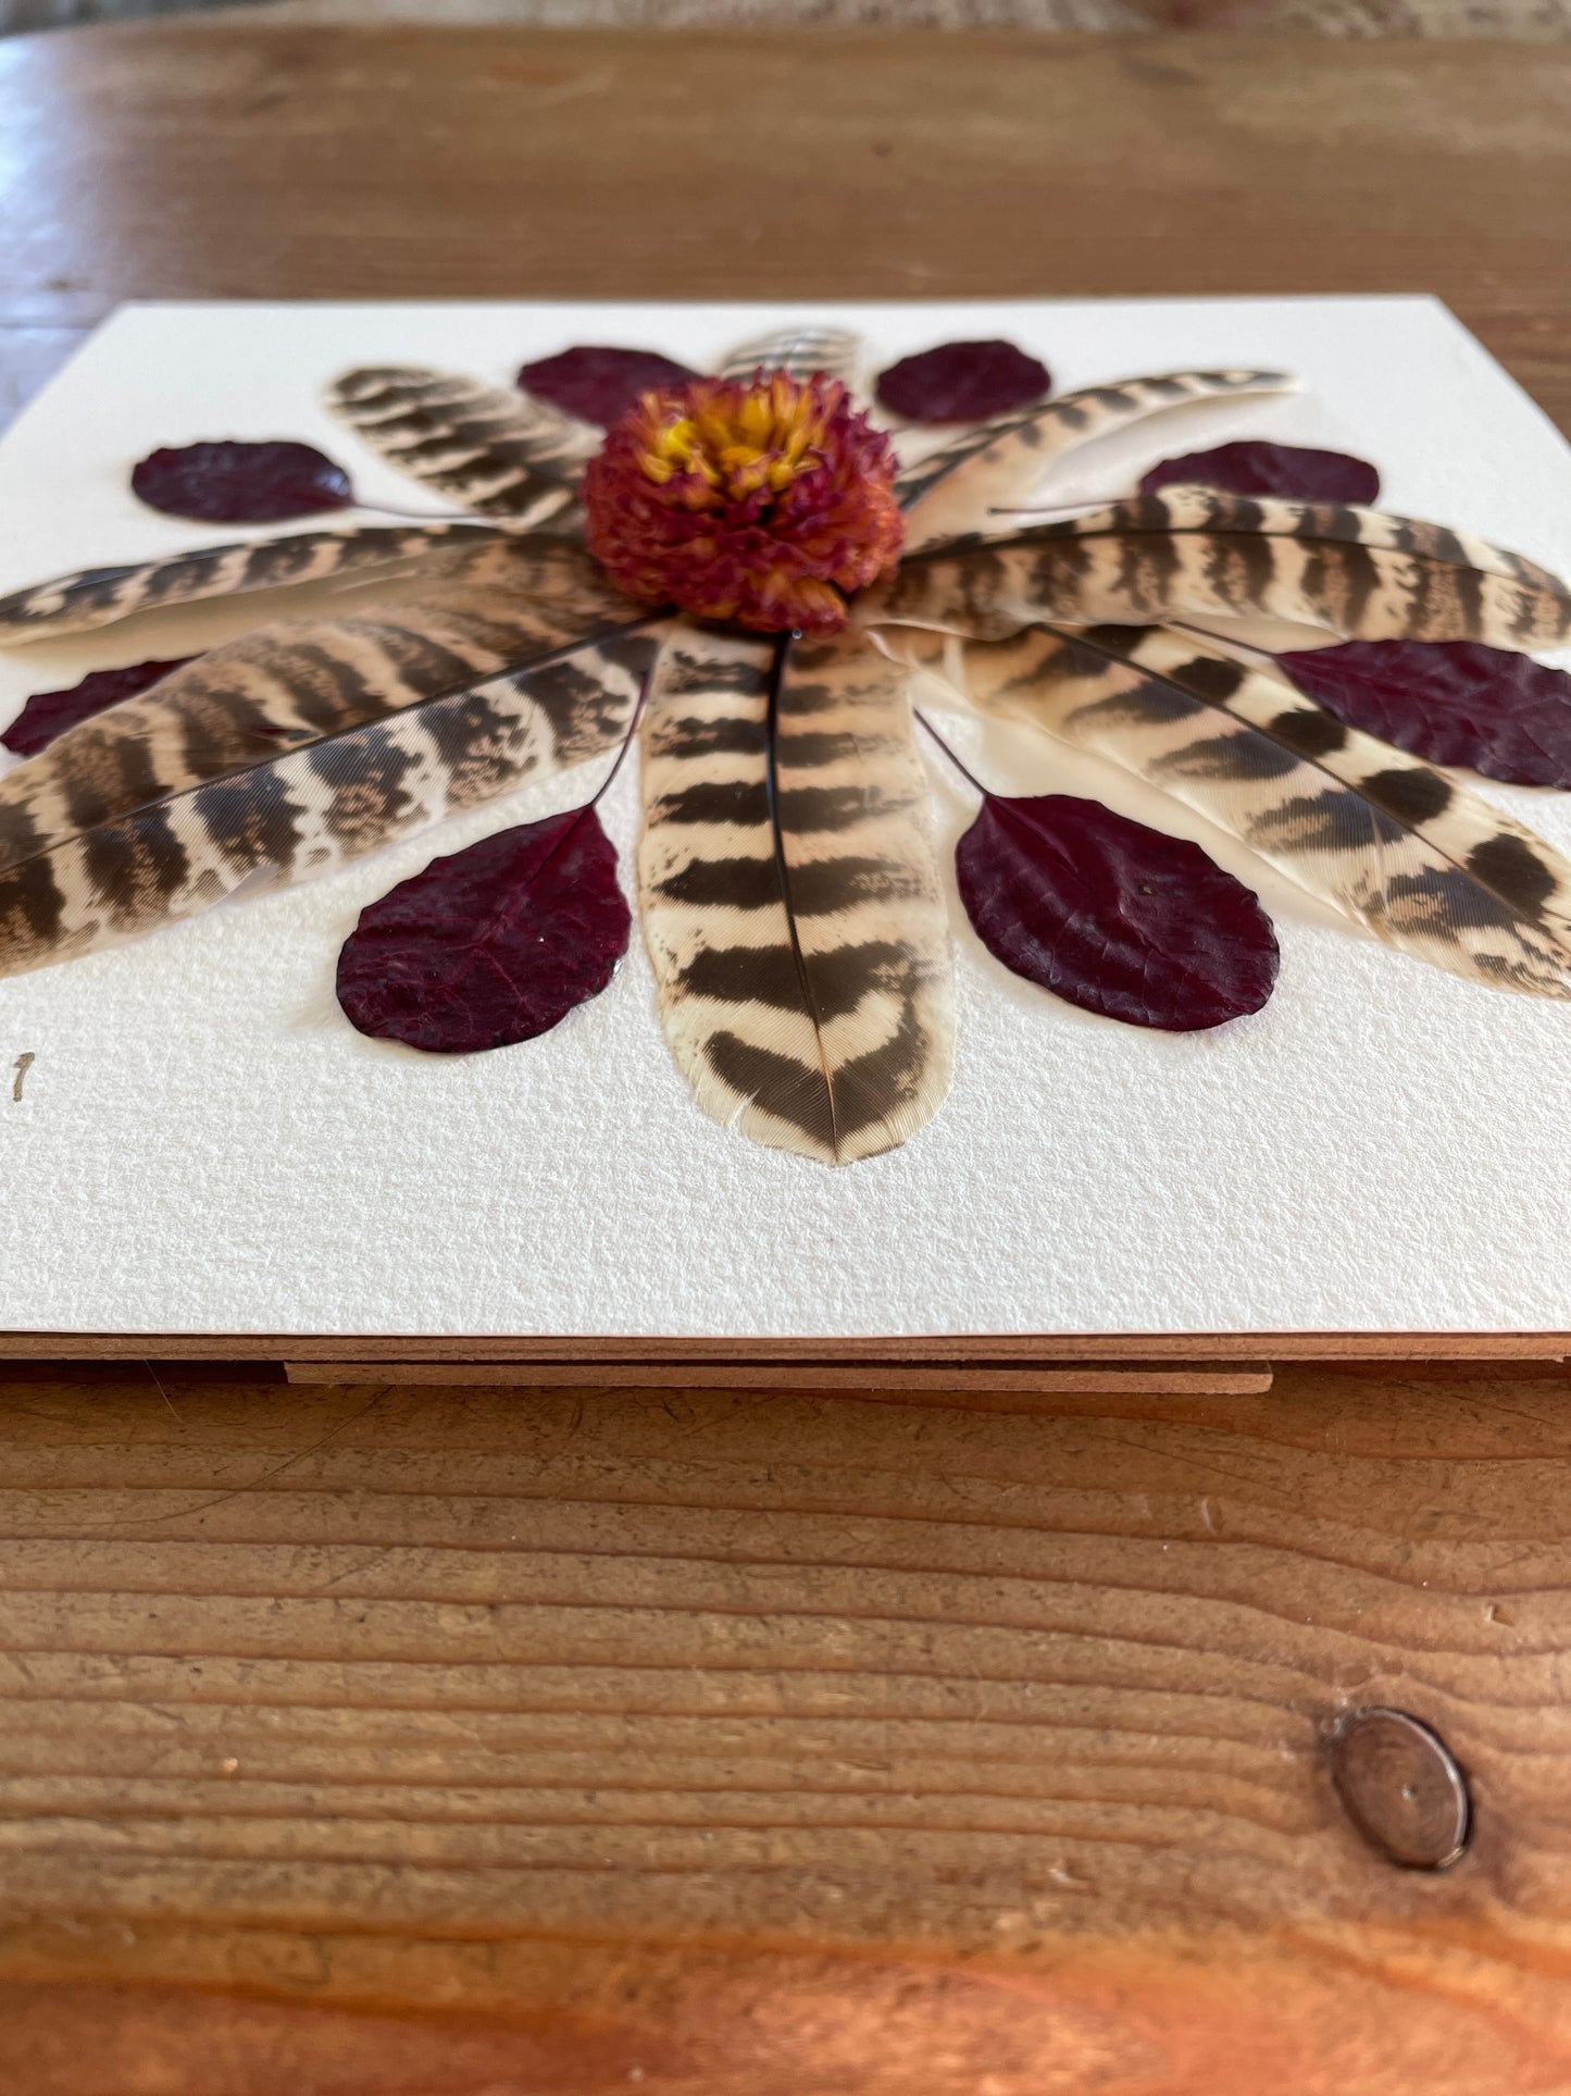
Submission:
[[[685,629],[645,717],[639,889],[666,1038],[706,1113],[825,1163],[905,1142],[949,1090],[905,683],[859,635]]]

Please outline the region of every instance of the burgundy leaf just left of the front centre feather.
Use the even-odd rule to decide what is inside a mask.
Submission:
[[[337,960],[350,1025],[432,1054],[507,1048],[597,998],[626,954],[595,805],[432,859],[360,912]]]

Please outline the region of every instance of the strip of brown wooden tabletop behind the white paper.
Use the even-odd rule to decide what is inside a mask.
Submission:
[[[1571,425],[1563,46],[237,17],[0,42],[0,126],[15,325],[119,298],[1437,291]]]

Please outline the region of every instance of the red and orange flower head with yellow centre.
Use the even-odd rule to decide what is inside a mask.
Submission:
[[[894,453],[838,379],[785,371],[647,392],[584,474],[587,545],[641,604],[834,633],[905,524]]]

